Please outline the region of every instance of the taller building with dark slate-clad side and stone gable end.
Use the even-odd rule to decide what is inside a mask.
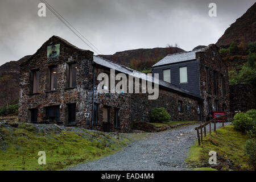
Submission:
[[[167,55],[152,65],[152,73],[159,73],[159,79],[203,98],[200,120],[207,120],[212,111],[230,111],[228,67],[214,44]]]

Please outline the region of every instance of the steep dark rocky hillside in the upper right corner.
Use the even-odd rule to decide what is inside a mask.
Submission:
[[[256,3],[245,14],[236,20],[218,39],[216,45],[227,48],[232,42],[255,42],[256,41]]]

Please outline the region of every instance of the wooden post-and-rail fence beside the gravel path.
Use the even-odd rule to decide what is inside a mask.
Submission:
[[[236,113],[228,113],[225,115],[222,115],[220,117],[217,118],[213,118],[208,122],[204,122],[203,124],[200,124],[200,126],[196,127],[196,133],[197,133],[197,139],[198,139],[198,144],[200,146],[200,144],[203,144],[203,129],[204,129],[204,137],[206,137],[206,126],[209,125],[209,132],[210,135],[212,134],[212,125],[211,123],[214,123],[213,125],[213,131],[216,131],[216,120],[221,120],[222,119],[222,126],[224,126],[224,122],[233,122],[233,115]],[[200,132],[199,132],[200,130]],[[200,136],[201,134],[201,136]]]

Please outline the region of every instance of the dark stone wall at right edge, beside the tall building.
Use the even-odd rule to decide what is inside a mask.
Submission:
[[[231,111],[247,111],[256,109],[255,106],[255,89],[249,84],[240,83],[229,85],[230,89],[230,110]]]

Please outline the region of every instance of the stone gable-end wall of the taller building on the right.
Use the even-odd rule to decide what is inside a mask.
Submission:
[[[196,53],[196,59],[199,60],[200,71],[200,95],[204,98],[203,105],[201,106],[203,120],[207,120],[208,115],[208,100],[210,100],[210,111],[230,111],[229,101],[229,77],[228,67],[225,65],[218,48],[214,44],[210,44],[205,51]],[[207,69],[209,69],[209,90],[207,90]],[[217,73],[217,94],[214,90],[214,72]],[[221,79],[223,84],[221,85]],[[221,91],[223,89],[223,93]],[[217,102],[217,106],[216,106]]]

